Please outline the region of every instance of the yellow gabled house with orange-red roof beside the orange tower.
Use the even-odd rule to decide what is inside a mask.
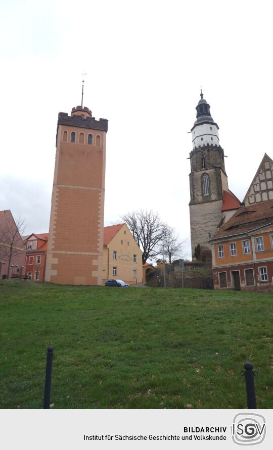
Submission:
[[[104,227],[103,283],[109,278],[143,282],[142,252],[125,223]]]

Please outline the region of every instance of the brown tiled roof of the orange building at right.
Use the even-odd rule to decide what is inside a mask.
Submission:
[[[269,223],[273,223],[273,200],[239,208],[210,241],[220,237],[246,233]]]

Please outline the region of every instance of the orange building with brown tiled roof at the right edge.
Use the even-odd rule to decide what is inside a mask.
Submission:
[[[240,208],[210,242],[215,289],[273,292],[273,201]]]

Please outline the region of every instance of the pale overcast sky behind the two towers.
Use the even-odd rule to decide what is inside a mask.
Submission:
[[[187,134],[204,98],[242,201],[271,148],[269,2],[3,0],[0,210],[49,230],[58,113],[109,120],[105,225],[156,210],[187,239]]]

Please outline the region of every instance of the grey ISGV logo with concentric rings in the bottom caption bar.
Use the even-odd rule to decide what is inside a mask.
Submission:
[[[265,418],[260,414],[239,413],[233,419],[232,440],[238,445],[260,444],[265,438]]]

